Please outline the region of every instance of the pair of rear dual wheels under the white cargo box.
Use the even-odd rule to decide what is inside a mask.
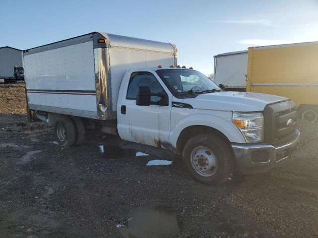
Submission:
[[[59,118],[55,123],[55,133],[60,145],[71,146],[84,141],[85,127],[80,118]]]

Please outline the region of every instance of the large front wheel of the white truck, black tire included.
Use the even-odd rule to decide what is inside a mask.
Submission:
[[[202,157],[202,153],[200,155],[200,151],[204,151],[205,148],[208,150],[203,153]],[[194,154],[192,155],[192,153]],[[204,168],[202,168],[199,160],[201,160],[201,162],[203,160],[203,163],[209,163],[207,162],[208,160],[204,158],[204,154],[207,156],[212,156],[214,162],[210,163],[210,165],[203,164],[202,166]],[[198,161],[194,162],[198,156]],[[198,182],[211,185],[225,182],[233,173],[235,165],[234,154],[229,142],[214,134],[201,134],[188,140],[183,148],[182,160],[183,165],[192,178]],[[211,166],[213,163],[214,165],[212,165],[210,169],[206,171],[200,171],[200,169],[207,169],[206,167],[209,168],[209,166]],[[204,176],[202,173],[209,175]]]

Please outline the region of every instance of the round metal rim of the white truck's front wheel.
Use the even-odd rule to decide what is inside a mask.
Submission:
[[[215,154],[207,147],[199,146],[192,150],[191,165],[194,171],[203,177],[213,176],[218,169]]]

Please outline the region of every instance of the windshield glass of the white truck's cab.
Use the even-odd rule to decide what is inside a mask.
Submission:
[[[174,94],[221,91],[211,79],[196,70],[159,69],[156,72]]]

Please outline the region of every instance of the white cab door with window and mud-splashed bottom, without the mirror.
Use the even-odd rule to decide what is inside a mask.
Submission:
[[[170,112],[172,95],[163,82],[149,71],[131,72],[126,82],[126,92],[121,100],[121,115],[118,132],[124,140],[161,147],[167,143],[170,132]],[[168,106],[160,105],[159,96],[151,97],[150,106],[136,105],[137,88],[148,86],[152,93],[165,92],[168,95]]]

